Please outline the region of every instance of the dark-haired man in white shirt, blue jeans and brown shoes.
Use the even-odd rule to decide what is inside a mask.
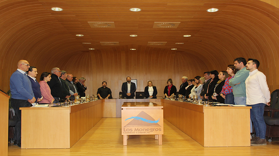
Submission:
[[[260,62],[248,59],[246,69],[250,70],[246,84],[246,104],[251,106],[250,117],[256,131],[256,137],[251,140],[251,146],[267,145],[265,139],[266,124],[264,122],[264,106],[270,105],[270,91],[266,76],[258,70]]]

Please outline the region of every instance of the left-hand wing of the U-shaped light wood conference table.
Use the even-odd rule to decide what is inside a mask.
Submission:
[[[102,102],[70,107],[23,107],[21,148],[70,148],[99,120]]]

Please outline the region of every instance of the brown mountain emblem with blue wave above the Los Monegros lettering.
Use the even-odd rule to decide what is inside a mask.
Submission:
[[[126,120],[133,119],[131,120],[126,126],[124,127],[129,127],[129,126],[138,126],[138,127],[161,127],[158,122],[158,120],[154,120],[150,115],[148,115],[146,112],[140,112],[137,116],[132,116],[130,118],[127,118]],[[126,121],[125,120],[125,121]]]

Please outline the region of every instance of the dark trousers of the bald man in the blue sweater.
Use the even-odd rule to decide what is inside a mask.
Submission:
[[[31,107],[32,104],[30,102],[28,102],[27,100],[11,98],[11,106],[15,110],[15,115],[17,115],[14,140],[17,141],[17,144],[21,144],[21,110],[19,110],[19,108],[20,107]]]

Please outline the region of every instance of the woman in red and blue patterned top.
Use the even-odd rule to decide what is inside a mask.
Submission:
[[[231,76],[226,78],[225,84],[222,88],[220,95],[225,99],[225,104],[234,104],[234,94],[232,93],[232,87],[229,86],[229,80],[234,77],[234,74],[238,70],[235,69],[234,65],[228,65],[226,71]]]

